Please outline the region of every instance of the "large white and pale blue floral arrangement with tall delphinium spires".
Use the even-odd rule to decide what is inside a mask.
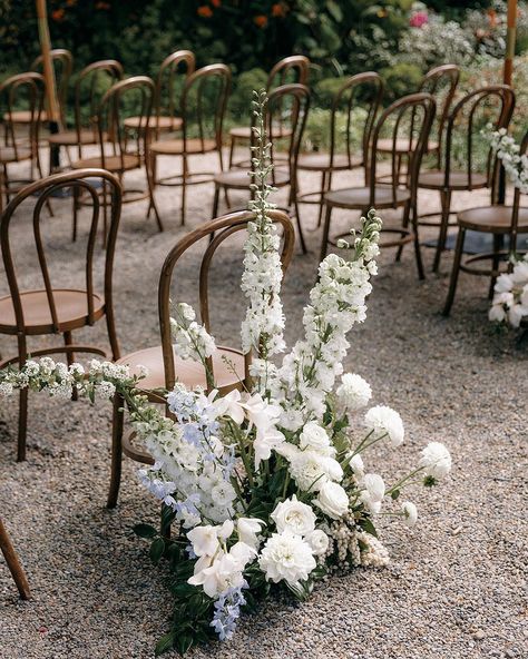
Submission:
[[[349,331],[365,318],[381,220],[374,210],[359,235],[341,242],[348,258],[329,255],[304,309],[304,336],[287,351],[280,298],[280,237],[268,218],[273,191],[264,131],[266,98],[256,96],[257,146],[253,154],[255,212],[245,243],[242,288],[247,313],[244,351],[252,351],[251,377],[222,395],[208,374],[208,391],[176,384],[166,392],[169,414],[148,403],[140,376],[94,361],[78,365],[45,357],[20,371],[0,373],[0,393],[29,386],[69,397],[75,386],[92,401],[121,393],[130,421],[154,466],[139,470],[141,483],[163,502],[163,529],[138,524],[151,541],[150,557],[167,559],[175,598],[172,629],[156,647],[182,655],[211,639],[228,639],[237,619],[271,591],[286,589],[303,600],[317,580],[358,565],[383,567],[380,514],[417,522],[417,508],[401,501],[414,483],[432,486],[451,469],[446,446],[431,442],[409,473],[391,484],[369,470],[374,444],[394,450],[404,441],[398,412],[368,409],[372,392],[358,374],[343,372]],[[193,308],[175,306],[174,350],[206,360],[215,342]],[[282,357],[281,357],[282,355]],[[366,411],[365,411],[366,409]],[[387,510],[385,510],[387,506]],[[170,529],[170,533],[168,530]]]

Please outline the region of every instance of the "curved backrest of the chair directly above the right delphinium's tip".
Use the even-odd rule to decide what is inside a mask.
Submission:
[[[392,188],[392,204],[397,206],[397,190],[400,184],[397,144],[405,139],[409,141],[409,168],[407,175],[407,187],[411,190],[412,199],[415,198],[418,186],[418,174],[423,154],[427,150],[429,134],[434,120],[437,104],[430,94],[419,92],[404,96],[395,100],[383,110],[372,131],[372,148],[370,154],[370,201],[369,206],[374,206],[374,189],[378,175],[378,141],[384,130],[389,129],[392,140],[391,149],[391,173],[390,186]],[[409,122],[411,134],[409,135]]]

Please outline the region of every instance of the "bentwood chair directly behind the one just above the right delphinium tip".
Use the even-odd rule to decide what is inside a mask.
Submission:
[[[378,110],[383,97],[383,81],[378,73],[372,71],[358,73],[346,78],[332,99],[330,118],[330,151],[303,154],[299,157],[300,171],[321,173],[321,189],[315,193],[304,193],[299,196],[300,204],[319,205],[317,227],[323,217],[323,197],[332,187],[334,171],[343,171],[365,167],[369,154],[369,144],[372,135]],[[358,139],[354,139],[355,124],[354,110],[363,109],[365,116],[361,118],[362,128],[358,130]],[[339,122],[345,121],[344,153],[338,153]]]

